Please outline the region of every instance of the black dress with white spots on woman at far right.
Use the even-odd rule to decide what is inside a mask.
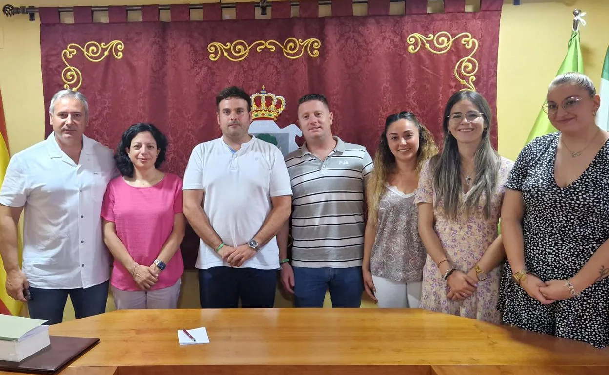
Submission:
[[[576,181],[560,188],[554,179],[559,134],[525,146],[505,184],[523,193],[524,260],[543,281],[573,277],[609,238],[609,140]],[[579,297],[543,305],[512,280],[512,273],[507,262],[498,302],[504,323],[597,348],[609,345],[609,278]]]

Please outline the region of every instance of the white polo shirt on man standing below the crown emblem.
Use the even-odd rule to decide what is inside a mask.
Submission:
[[[247,244],[269,215],[273,196],[292,195],[290,176],[281,151],[256,137],[236,153],[222,138],[199,143],[192,150],[184,174],[183,190],[203,190],[203,210],[211,227],[228,246]],[[199,243],[195,267],[230,266]],[[273,237],[241,267],[278,269],[279,248]]]

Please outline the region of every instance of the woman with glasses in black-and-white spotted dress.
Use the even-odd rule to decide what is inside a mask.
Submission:
[[[590,78],[555,78],[544,105],[560,132],[521,151],[501,213],[504,323],[609,345],[609,133]]]

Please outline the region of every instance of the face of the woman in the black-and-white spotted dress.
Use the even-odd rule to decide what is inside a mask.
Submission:
[[[599,106],[599,95],[591,96],[586,89],[569,83],[551,86],[544,110],[558,131],[578,134],[594,125],[594,114]]]

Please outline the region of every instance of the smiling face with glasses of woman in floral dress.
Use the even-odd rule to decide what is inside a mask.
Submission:
[[[484,128],[484,115],[474,103],[464,99],[452,106],[448,131],[457,143],[480,143]]]

